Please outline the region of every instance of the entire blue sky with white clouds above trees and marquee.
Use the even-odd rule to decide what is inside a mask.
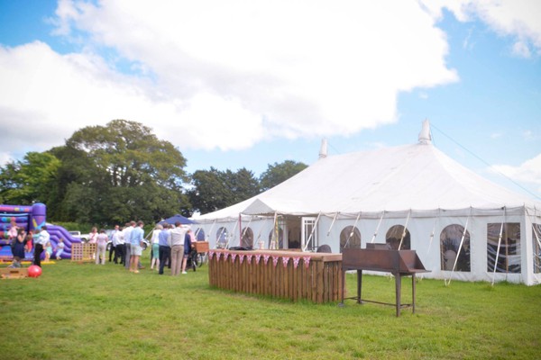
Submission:
[[[428,119],[448,156],[539,198],[540,18],[534,0],[0,0],[0,163],[121,118],[190,173],[260,175],[323,138],[415,143]]]

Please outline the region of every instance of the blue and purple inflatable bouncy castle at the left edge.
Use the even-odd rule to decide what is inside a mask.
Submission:
[[[0,205],[0,259],[11,260],[13,258],[7,236],[12,220],[15,220],[15,224],[26,232],[32,230],[34,234],[38,234],[41,227],[46,224],[46,215],[47,207],[40,202],[34,203],[32,206]],[[50,245],[53,249],[56,248],[60,238],[64,240],[62,258],[71,258],[72,244],[81,242],[80,239],[73,238],[68,230],[61,226],[47,224],[47,232],[50,233]],[[26,259],[32,259],[32,257],[32,253],[27,253],[25,256]],[[44,257],[44,253],[41,257]]]

